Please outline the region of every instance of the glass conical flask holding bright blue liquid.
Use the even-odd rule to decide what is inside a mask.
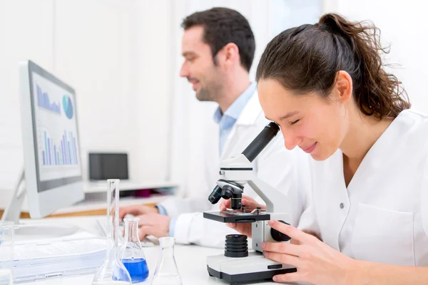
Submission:
[[[139,218],[125,218],[125,244],[121,249],[121,261],[128,269],[131,282],[140,283],[148,277],[148,266],[146,257],[138,238]]]

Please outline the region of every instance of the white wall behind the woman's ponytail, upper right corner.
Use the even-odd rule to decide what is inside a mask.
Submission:
[[[327,0],[325,12],[336,11],[354,21],[371,20],[381,30],[381,40],[391,44],[387,70],[403,82],[413,108],[428,113],[427,1]]]

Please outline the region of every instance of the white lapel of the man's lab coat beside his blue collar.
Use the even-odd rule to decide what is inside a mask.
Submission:
[[[220,155],[220,161],[224,160],[230,155],[236,155],[236,152],[243,152],[243,150],[235,150],[235,146],[239,145],[238,141],[243,139],[240,138],[239,133],[243,129],[255,128],[255,123],[260,116],[260,113],[263,113],[262,108],[260,107],[260,103],[258,100],[258,94],[255,92],[253,97],[248,101],[247,105],[243,109],[240,114],[238,120],[235,125],[233,125],[232,130],[230,130],[230,134],[225,141],[225,145],[223,146],[223,151]]]

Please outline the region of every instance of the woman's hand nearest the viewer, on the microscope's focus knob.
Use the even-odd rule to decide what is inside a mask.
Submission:
[[[299,242],[299,244],[285,242],[262,244],[265,257],[297,268],[295,273],[274,276],[274,281],[305,281],[317,285],[349,284],[351,271],[357,262],[355,259],[337,252],[316,237],[288,224],[271,220],[269,225]]]

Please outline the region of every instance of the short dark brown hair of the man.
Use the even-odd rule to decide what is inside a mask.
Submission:
[[[213,60],[218,51],[228,43],[235,43],[239,49],[240,63],[247,71],[253,64],[255,39],[250,24],[238,11],[216,7],[187,16],[181,26],[187,30],[193,26],[203,26],[203,41],[208,43]]]

